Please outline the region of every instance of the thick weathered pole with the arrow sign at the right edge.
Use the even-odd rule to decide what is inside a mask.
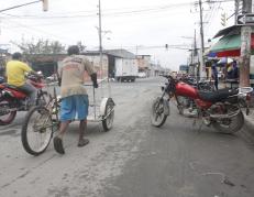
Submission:
[[[252,0],[243,0],[243,14],[245,13],[252,13]],[[250,86],[251,34],[250,25],[241,28],[240,87]]]

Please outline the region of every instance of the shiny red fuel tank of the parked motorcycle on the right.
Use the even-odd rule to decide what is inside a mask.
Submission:
[[[186,83],[177,83],[176,95],[183,96],[183,97],[189,97],[192,99],[198,98],[197,89]]]

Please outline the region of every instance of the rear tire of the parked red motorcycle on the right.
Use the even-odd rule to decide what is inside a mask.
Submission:
[[[243,124],[244,124],[244,116],[242,111],[240,111],[239,114],[236,114],[231,119],[224,119],[222,120],[222,122],[216,121],[212,123],[216,130],[225,134],[232,134],[238,132],[240,129],[242,129]]]

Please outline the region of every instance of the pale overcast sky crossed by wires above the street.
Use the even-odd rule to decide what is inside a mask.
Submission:
[[[35,0],[0,0],[0,10]],[[233,14],[233,0],[203,1],[206,46],[223,29],[221,13]],[[227,2],[219,2],[227,1]],[[99,46],[99,0],[48,0],[0,12],[0,47],[13,53],[14,43],[38,39],[59,41],[68,46],[81,41],[87,50]],[[200,45],[200,20],[197,0],[101,0],[102,47],[124,48],[136,55],[151,55],[154,63],[177,70],[188,63],[196,31]],[[233,24],[233,17],[227,26]],[[165,48],[168,44],[168,48]]]

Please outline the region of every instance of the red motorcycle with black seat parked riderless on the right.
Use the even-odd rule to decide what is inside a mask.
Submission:
[[[192,99],[197,107],[197,118],[202,119],[206,125],[213,125],[214,129],[223,133],[239,131],[244,124],[244,116],[241,107],[246,108],[249,113],[247,98],[253,88],[219,89],[217,91],[199,90],[191,85],[164,76],[168,83],[162,87],[163,95],[157,97],[152,106],[152,124],[162,127],[169,116],[169,101],[178,97]]]

